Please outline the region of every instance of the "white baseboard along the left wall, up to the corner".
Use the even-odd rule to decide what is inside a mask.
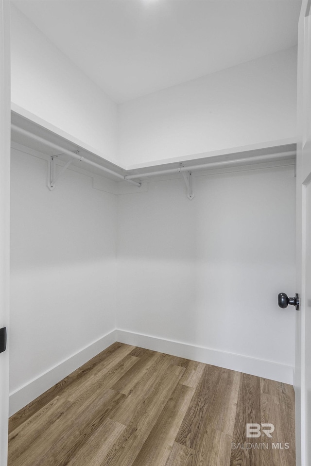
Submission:
[[[9,416],[15,414],[36,397],[39,397],[46,390],[49,390],[55,383],[67,377],[71,372],[78,369],[78,367],[85,364],[116,341],[115,330],[113,330],[10,393]]]

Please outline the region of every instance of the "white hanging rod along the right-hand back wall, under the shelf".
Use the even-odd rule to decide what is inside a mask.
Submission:
[[[204,163],[201,165],[190,165],[188,167],[178,167],[178,168],[171,168],[168,170],[158,170],[157,172],[148,172],[148,173],[139,173],[135,175],[126,175],[124,178],[128,181],[133,180],[135,178],[141,178],[142,176],[156,176],[156,175],[165,175],[168,173],[181,173],[181,172],[193,172],[194,170],[203,170],[208,168],[215,168],[215,167],[224,167],[230,164],[245,164],[248,162],[261,162],[268,160],[269,162],[272,159],[277,159],[282,157],[282,159],[293,158],[293,155],[296,155],[296,151],[289,151],[289,152],[279,152],[278,154],[272,155],[255,155],[254,157],[248,158],[239,158],[234,160],[223,160],[222,162],[211,162],[211,163]]]

